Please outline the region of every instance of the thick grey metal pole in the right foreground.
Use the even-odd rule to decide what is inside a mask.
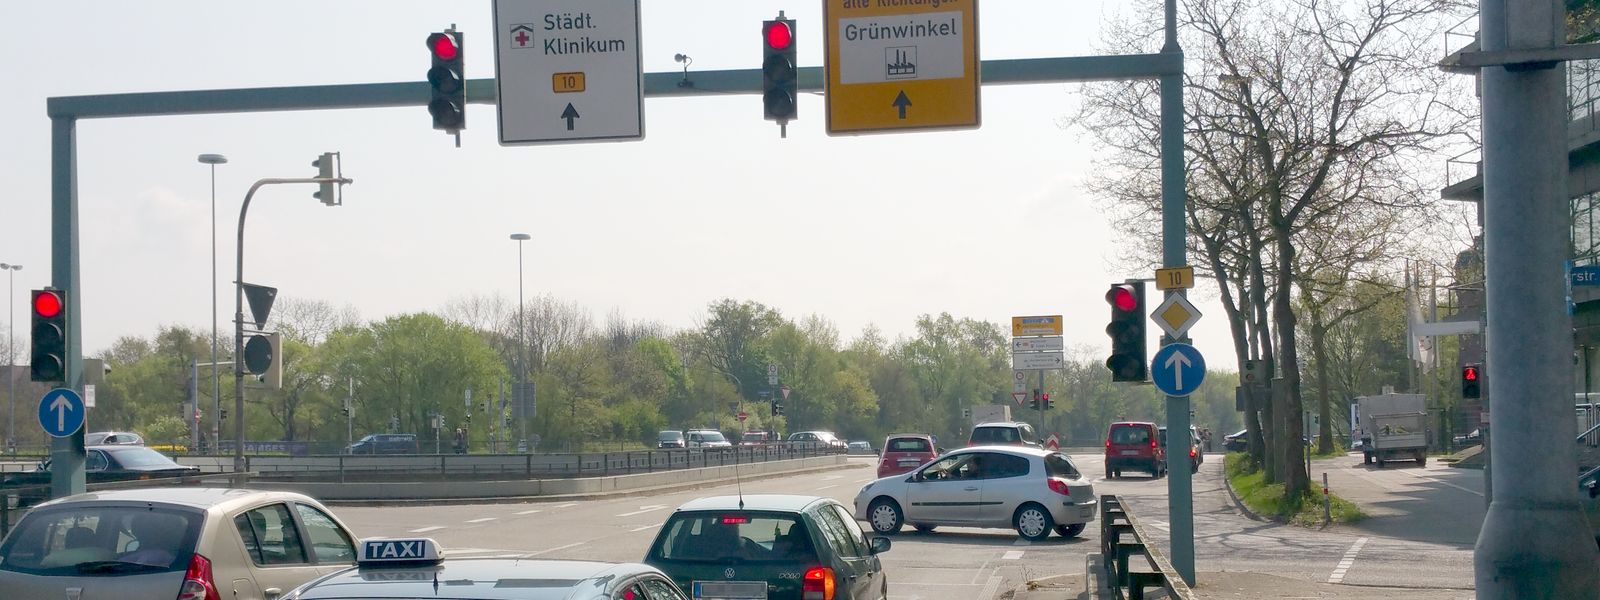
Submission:
[[[1485,54],[1566,42],[1558,0],[1483,0]],[[1494,494],[1474,552],[1480,598],[1594,598],[1595,541],[1578,504],[1566,314],[1570,202],[1562,62],[1486,66],[1483,254]]]

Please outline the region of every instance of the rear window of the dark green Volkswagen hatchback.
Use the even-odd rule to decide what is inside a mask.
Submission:
[[[814,562],[811,534],[787,512],[680,512],[667,520],[650,562]]]

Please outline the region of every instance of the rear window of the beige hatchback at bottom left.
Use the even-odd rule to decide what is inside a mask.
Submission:
[[[200,514],[144,506],[69,502],[35,510],[0,546],[0,570],[34,574],[181,571]]]

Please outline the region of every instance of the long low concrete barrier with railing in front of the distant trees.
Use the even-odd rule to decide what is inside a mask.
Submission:
[[[734,448],[669,448],[621,453],[555,454],[333,454],[246,456],[245,470],[259,478],[378,480],[413,478],[568,478],[702,469],[730,464],[789,461],[842,454],[845,448],[808,443],[776,443]],[[229,472],[230,456],[179,456],[179,464],[202,472]]]

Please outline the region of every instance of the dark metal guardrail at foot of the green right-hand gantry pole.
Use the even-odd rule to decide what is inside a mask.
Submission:
[[[1123,534],[1130,539],[1123,541]],[[1173,563],[1147,539],[1144,526],[1123,507],[1122,496],[1101,496],[1101,563],[1106,566],[1107,587],[1117,598],[1142,600],[1146,587],[1160,587],[1166,590],[1168,598],[1195,600],[1195,592]],[[1150,571],[1128,568],[1136,554],[1144,557]]]

